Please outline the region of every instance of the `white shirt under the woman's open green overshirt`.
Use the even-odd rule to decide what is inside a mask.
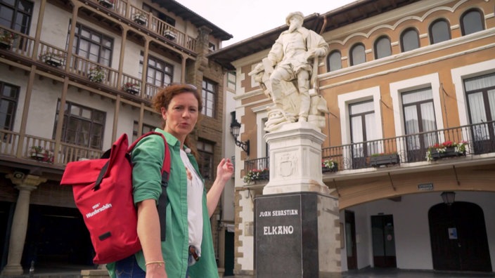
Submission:
[[[189,230],[189,245],[195,246],[198,256],[201,256],[201,242],[203,241],[203,180],[194,170],[186,152],[181,150],[181,159],[184,166],[193,176],[187,179],[187,222]]]

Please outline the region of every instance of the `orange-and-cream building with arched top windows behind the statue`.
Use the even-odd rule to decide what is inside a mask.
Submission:
[[[304,20],[330,48],[316,88],[329,111],[321,159],[339,201],[342,271],[494,272],[495,2],[394,3],[356,1]],[[236,152],[240,277],[255,273],[254,199],[270,165],[272,103],[248,73],[285,29],[208,55],[236,72],[239,140],[250,143],[249,156]],[[264,175],[244,178],[253,171]]]

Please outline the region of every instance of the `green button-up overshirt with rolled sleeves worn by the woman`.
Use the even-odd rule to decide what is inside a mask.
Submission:
[[[180,142],[173,135],[156,128],[167,139],[170,150],[170,177],[167,195],[166,240],[162,241],[162,253],[165,270],[169,278],[186,277],[188,260],[188,221],[187,221],[187,174],[180,157]],[[162,138],[151,135],[143,138],[132,152],[132,179],[134,203],[144,199],[155,199],[161,194],[161,169],[165,155]],[[188,154],[191,164],[198,170],[198,163],[192,154]],[[136,253],[139,266],[146,270],[143,251]],[[110,276],[115,277],[115,265],[108,264]],[[203,242],[201,258],[189,269],[192,278],[217,278],[218,269],[214,256],[210,217],[206,206],[206,190],[203,193]]]

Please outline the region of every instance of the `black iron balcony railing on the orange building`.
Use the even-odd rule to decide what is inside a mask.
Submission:
[[[367,142],[325,147],[321,151],[322,159],[332,159],[338,170],[372,168],[376,154],[390,154],[391,164],[404,164],[427,161],[430,146],[445,142],[466,143],[465,154],[487,154],[495,152],[495,121],[470,124],[437,131],[428,131],[394,138],[371,140]],[[464,154],[464,153],[463,153]],[[398,156],[398,161],[394,160]],[[244,161],[245,173],[253,169],[269,167],[269,157]]]

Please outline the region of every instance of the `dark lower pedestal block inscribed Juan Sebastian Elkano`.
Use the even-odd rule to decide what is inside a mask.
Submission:
[[[257,278],[342,277],[338,200],[316,192],[255,199]]]

